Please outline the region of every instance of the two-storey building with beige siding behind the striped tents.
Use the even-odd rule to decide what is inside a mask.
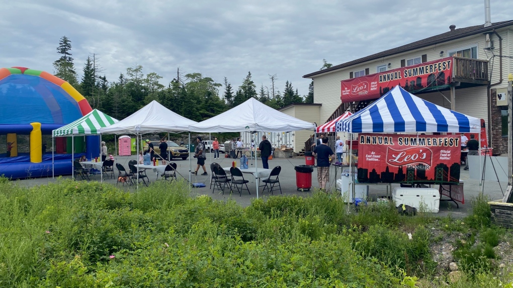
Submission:
[[[379,98],[374,95],[373,99],[344,101],[344,97],[341,98],[343,81],[447,57],[453,57],[450,87],[426,87],[413,94],[439,106],[484,119],[489,147],[494,148],[494,154],[506,153],[507,102],[502,93],[507,89],[508,74],[513,73],[513,20],[465,28],[451,25],[445,33],[303,77],[313,79],[314,103],[322,104],[319,107],[320,125],[346,110],[357,112]]]

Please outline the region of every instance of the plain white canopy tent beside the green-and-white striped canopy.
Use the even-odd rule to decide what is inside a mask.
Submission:
[[[139,155],[139,141],[143,134],[148,133],[173,133],[188,132],[189,126],[198,122],[187,119],[181,115],[162,106],[159,102],[153,100],[150,104],[136,111],[125,119],[101,130],[102,134],[135,134],[137,142],[137,155]],[[141,137],[141,139],[140,139]],[[189,133],[190,144],[190,133]],[[189,146],[190,147],[190,146]],[[190,157],[189,157],[189,182],[190,176]],[[137,173],[139,178],[139,173]],[[139,183],[139,179],[137,179]]]

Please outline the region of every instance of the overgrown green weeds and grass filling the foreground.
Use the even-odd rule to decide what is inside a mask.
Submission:
[[[181,182],[130,193],[70,180],[23,188],[0,177],[0,287],[443,286],[429,250],[428,225],[438,222],[399,216],[393,204],[354,213],[324,193],[242,208],[191,198]],[[487,247],[499,234],[481,229],[486,244],[467,241],[462,263],[494,258]],[[511,281],[492,269],[465,267],[476,273],[457,284]]]

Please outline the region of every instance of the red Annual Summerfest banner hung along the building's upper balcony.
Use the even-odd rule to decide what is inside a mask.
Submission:
[[[450,86],[452,57],[342,80],[342,102],[376,99],[397,85],[410,93]]]

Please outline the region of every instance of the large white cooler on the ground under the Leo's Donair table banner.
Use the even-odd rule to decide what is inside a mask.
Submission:
[[[438,213],[440,209],[440,192],[434,188],[394,188],[392,198],[397,205],[406,204],[417,208],[421,203],[429,213]]]

